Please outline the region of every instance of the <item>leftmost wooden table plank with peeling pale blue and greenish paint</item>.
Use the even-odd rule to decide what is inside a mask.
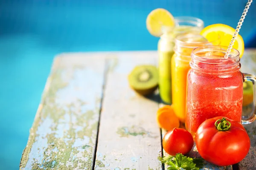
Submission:
[[[83,55],[55,58],[20,170],[92,169],[104,67]]]

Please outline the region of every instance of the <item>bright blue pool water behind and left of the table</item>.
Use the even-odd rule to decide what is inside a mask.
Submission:
[[[154,8],[236,26],[246,0],[0,0],[0,169],[17,170],[53,57],[69,51],[156,50]],[[229,3],[232,2],[232,5]],[[226,9],[231,10],[226,10]],[[255,45],[256,3],[241,28]],[[254,36],[254,38],[253,38]]]

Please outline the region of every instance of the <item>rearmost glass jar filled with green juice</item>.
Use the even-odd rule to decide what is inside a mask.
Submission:
[[[162,26],[163,34],[158,41],[159,92],[163,102],[172,104],[171,60],[175,37],[180,34],[199,34],[204,22],[195,17],[175,17],[175,26]]]

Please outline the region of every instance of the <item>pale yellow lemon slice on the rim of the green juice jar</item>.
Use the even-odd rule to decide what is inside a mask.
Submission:
[[[146,26],[151,35],[160,37],[163,34],[162,27],[174,27],[175,20],[169,11],[163,8],[157,8],[148,14]]]

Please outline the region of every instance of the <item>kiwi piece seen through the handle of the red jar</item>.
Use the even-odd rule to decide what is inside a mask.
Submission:
[[[244,91],[243,91],[243,106],[249,105],[253,102],[253,83],[250,81],[244,82]]]

